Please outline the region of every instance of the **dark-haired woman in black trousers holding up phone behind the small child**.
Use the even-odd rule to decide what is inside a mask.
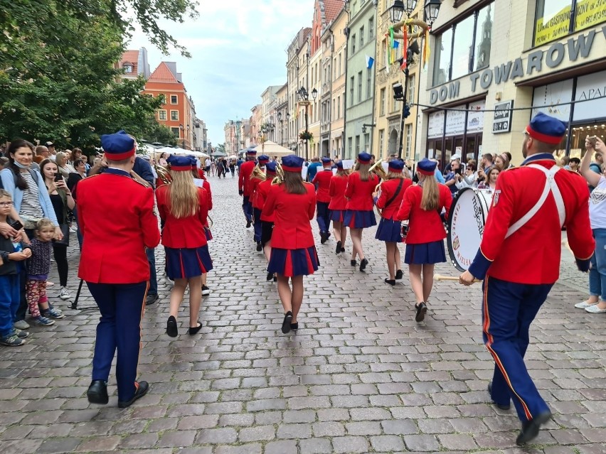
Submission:
[[[48,197],[50,202],[53,204],[53,210],[59,225],[68,224],[68,210],[75,208],[75,200],[72,192],[68,189],[65,184],[63,177],[60,180],[56,180],[58,175],[57,164],[45,159],[40,163],[40,171],[44,177],[44,184],[48,190]],[[64,238],[62,242],[53,242],[53,256],[55,263],[57,264],[57,271],[59,272],[59,285],[61,286],[59,291],[59,298],[62,300],[68,300],[70,293],[68,292],[68,238]]]

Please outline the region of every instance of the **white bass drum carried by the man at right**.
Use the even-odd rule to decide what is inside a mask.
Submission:
[[[492,195],[491,190],[464,188],[452,201],[446,242],[452,264],[459,271],[467,271],[478,252]]]

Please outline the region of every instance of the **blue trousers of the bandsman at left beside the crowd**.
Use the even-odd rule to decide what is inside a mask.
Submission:
[[[92,357],[92,379],[107,382],[117,351],[118,401],[129,401],[136,390],[141,318],[148,283],[86,284],[101,313]]]

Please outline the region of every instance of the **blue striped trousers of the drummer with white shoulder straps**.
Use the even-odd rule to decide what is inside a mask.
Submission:
[[[549,410],[532,381],[524,355],[528,330],[553,284],[523,284],[484,280],[482,328],[484,344],[494,358],[491,398],[497,404],[514,401],[520,421]]]

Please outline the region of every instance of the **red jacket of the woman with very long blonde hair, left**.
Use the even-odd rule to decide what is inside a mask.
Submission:
[[[174,249],[195,248],[206,246],[204,226],[208,217],[208,193],[206,189],[198,188],[198,212],[196,215],[177,219],[171,215],[169,197],[170,186],[156,189],[158,211],[162,220],[166,221],[162,229],[162,244]]]

